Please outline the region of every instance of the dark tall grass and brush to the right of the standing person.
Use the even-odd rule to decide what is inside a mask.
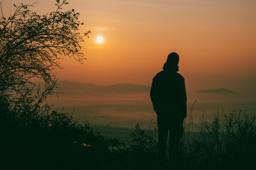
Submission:
[[[184,168],[255,169],[255,115],[234,109],[228,114],[218,111],[213,116],[211,123],[201,119],[198,132],[187,129],[183,135]]]

